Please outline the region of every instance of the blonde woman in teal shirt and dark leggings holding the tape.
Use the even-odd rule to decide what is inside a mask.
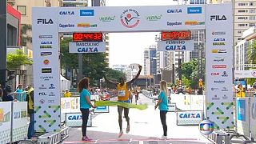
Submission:
[[[158,103],[154,106],[160,110],[160,119],[162,122],[163,135],[162,139],[167,139],[167,125],[166,125],[166,114],[168,112],[168,95],[166,81],[160,82],[160,94],[158,96]]]

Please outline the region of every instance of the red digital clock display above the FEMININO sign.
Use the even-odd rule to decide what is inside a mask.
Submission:
[[[187,31],[162,31],[161,40],[190,40],[191,32]]]

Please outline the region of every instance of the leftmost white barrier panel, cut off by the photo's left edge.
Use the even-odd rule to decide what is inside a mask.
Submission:
[[[0,102],[0,143],[10,143],[11,102]]]

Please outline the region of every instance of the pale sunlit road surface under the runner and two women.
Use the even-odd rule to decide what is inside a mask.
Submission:
[[[198,130],[198,126],[177,126],[176,114],[167,113],[168,139],[160,140],[162,136],[162,124],[159,110],[154,110],[154,103],[143,94],[139,95],[139,101],[148,103],[146,110],[130,109],[130,133],[126,134],[126,120],[123,118],[122,126],[124,134],[118,138],[118,110],[117,106],[110,106],[110,113],[95,114],[92,127],[87,129],[87,135],[93,138],[92,142],[82,142],[81,127],[70,128],[69,137],[63,143],[134,143],[134,144],[181,144],[181,143],[212,143],[204,138]]]

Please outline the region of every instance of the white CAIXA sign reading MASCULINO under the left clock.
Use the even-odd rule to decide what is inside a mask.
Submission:
[[[70,42],[70,53],[104,53],[106,42]]]

